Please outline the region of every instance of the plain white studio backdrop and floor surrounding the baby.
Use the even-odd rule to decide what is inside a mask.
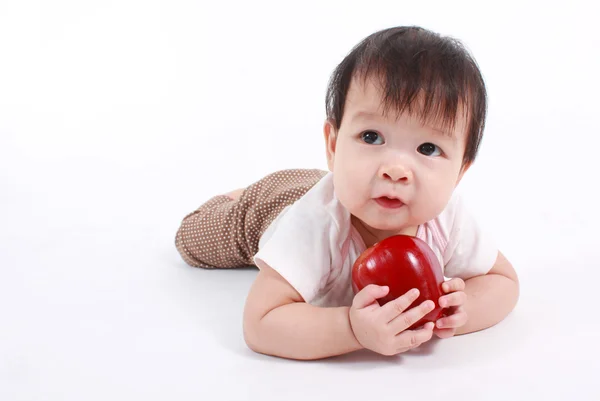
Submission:
[[[494,4],[0,0],[0,399],[599,400],[596,6]],[[395,25],[481,67],[461,189],[519,304],[393,358],[255,354],[256,269],[189,267],[175,232],[215,194],[325,169],[329,74]]]

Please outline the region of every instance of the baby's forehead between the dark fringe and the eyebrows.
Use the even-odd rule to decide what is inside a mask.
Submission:
[[[421,92],[411,103],[410,110],[406,107],[400,113],[394,105],[385,104],[381,83],[378,80],[373,78],[366,80],[353,78],[346,95],[343,120],[355,123],[360,120],[397,122],[400,119],[405,119],[430,129],[434,134],[450,136],[457,140],[462,140],[466,137],[468,121],[461,102],[458,104],[454,127],[443,124],[443,121],[434,115],[422,116],[423,103],[424,94]]]

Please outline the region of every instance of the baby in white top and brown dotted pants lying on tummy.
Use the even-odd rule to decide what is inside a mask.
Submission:
[[[326,112],[329,171],[278,171],[212,197],[177,232],[192,266],[259,268],[248,347],[292,359],[395,355],[504,319],[517,275],[455,192],[486,117],[482,76],[460,42],[414,26],[368,36],[333,72]],[[410,307],[418,290],[384,306],[387,287],[352,291],[354,261],[396,234],[427,242],[448,278],[438,301],[451,313],[414,330],[434,308]]]

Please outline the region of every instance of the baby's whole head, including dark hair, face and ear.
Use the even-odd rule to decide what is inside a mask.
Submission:
[[[382,239],[447,205],[475,160],[486,89],[459,41],[419,27],[376,32],[332,74],[324,133],[336,196]],[[401,207],[375,199],[397,197]]]

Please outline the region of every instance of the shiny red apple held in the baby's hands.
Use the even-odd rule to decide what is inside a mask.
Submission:
[[[352,288],[356,294],[369,284],[389,286],[388,294],[377,300],[383,306],[412,288],[419,289],[419,297],[408,309],[431,299],[435,308],[409,329],[427,322],[435,322],[445,315],[438,300],[444,295],[444,276],[435,253],[417,237],[394,235],[365,250],[352,267]]]

